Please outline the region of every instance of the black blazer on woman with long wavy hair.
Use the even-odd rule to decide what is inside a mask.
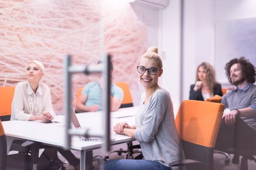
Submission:
[[[190,86],[189,100],[202,100],[202,101],[204,101],[201,89],[199,89],[198,91],[195,92],[194,87],[195,87],[195,84]],[[213,87],[213,95],[216,95],[216,94],[218,94],[219,96],[223,95],[220,84],[216,84]]]

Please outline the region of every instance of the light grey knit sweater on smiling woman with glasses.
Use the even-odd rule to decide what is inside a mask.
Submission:
[[[145,92],[141,95],[139,109],[135,115],[135,137],[144,159],[169,162],[184,159],[184,153],[173,115],[170,94],[158,89],[144,105]],[[180,170],[180,167],[172,167]]]

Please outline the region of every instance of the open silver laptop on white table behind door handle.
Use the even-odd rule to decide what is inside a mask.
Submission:
[[[86,129],[86,128],[82,128],[78,118],[76,117],[76,113],[74,111],[73,108],[71,108],[71,120],[72,123],[74,124],[74,127],[76,129]],[[79,136],[81,141],[91,141],[91,142],[95,142],[95,141],[104,141],[103,137],[99,137],[99,136],[90,136],[90,137],[85,137],[85,136]],[[111,131],[110,132],[110,141],[115,141],[115,132]]]

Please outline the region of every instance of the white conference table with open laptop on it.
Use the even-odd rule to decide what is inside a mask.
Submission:
[[[119,122],[127,122],[130,125],[135,124],[135,113],[138,107],[121,108],[118,111],[111,112],[110,124],[114,126]],[[93,130],[99,130],[103,128],[103,112],[85,112],[77,113],[76,116],[82,127],[87,127]],[[117,118],[117,115],[124,115],[121,118]],[[61,123],[54,124],[41,124],[37,121],[4,121],[2,122],[5,134],[7,136],[7,143],[13,139],[27,139],[35,142],[41,142],[44,144],[64,147],[65,146],[65,118],[63,115],[56,116],[55,121]],[[111,127],[112,127],[111,126]],[[112,128],[110,129],[112,131]],[[126,135],[115,134],[115,141],[111,144],[121,144],[132,141],[131,137]],[[9,142],[8,142],[9,141]],[[87,142],[80,141],[78,136],[72,136],[71,150],[80,151],[81,170],[85,170],[85,152],[101,148],[104,142]]]

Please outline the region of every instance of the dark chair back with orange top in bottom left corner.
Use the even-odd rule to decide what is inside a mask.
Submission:
[[[6,143],[4,128],[0,120],[0,169],[1,170],[6,169],[6,162],[7,162],[7,143]]]

